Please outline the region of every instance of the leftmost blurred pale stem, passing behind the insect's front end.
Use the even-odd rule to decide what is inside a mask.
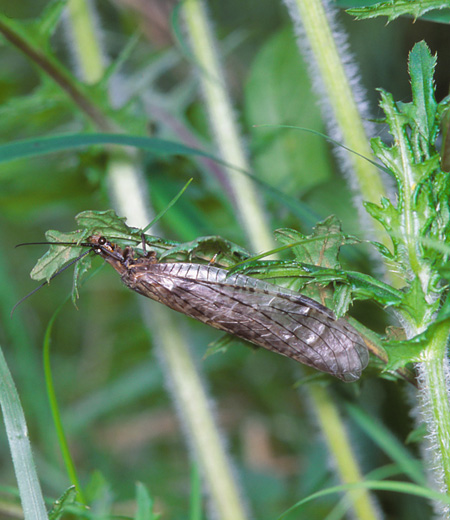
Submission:
[[[87,11],[85,13],[88,14]],[[89,28],[93,24],[82,26]],[[78,34],[81,36],[81,33],[74,32],[74,37]],[[88,38],[88,41],[90,45],[95,42],[99,46],[96,37]],[[100,56],[101,53],[95,52],[95,55]],[[82,59],[83,56],[80,56]],[[118,213],[126,217],[130,225],[143,228],[151,220],[151,210],[137,161],[137,154],[113,151],[108,165],[108,183]],[[150,306],[145,301],[141,302],[141,311],[156,338],[159,354],[171,380],[178,412],[186,427],[188,441],[194,448],[217,518],[245,520],[245,508],[211,412],[210,398],[192,360],[186,339],[179,333],[171,311],[153,305],[150,313]]]

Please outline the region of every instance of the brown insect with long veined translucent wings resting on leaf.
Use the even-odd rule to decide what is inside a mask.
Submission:
[[[369,353],[358,332],[316,301],[211,265],[159,263],[101,235],[88,239],[133,291],[216,329],[345,382],[359,379]]]

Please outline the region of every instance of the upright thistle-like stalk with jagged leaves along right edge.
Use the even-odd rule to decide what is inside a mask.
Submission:
[[[417,64],[418,54],[419,50],[416,49],[414,54],[410,55],[410,73],[413,103],[416,105],[415,110],[420,114],[421,98],[418,91],[421,92],[423,82],[428,83],[430,91],[433,85],[431,76],[427,74],[419,76],[422,83],[417,77],[414,63]],[[426,54],[423,53],[422,60],[425,60],[421,61],[423,70],[426,70],[426,65],[429,66],[431,63],[431,61],[427,63],[425,56]],[[429,56],[431,58],[431,55]],[[428,103],[430,106],[426,104],[423,109],[425,110],[426,107],[431,112],[433,102],[428,99]],[[428,430],[426,438],[428,449],[424,450],[423,454],[430,469],[431,483],[442,493],[450,495],[450,368],[447,357],[450,320],[433,324],[440,307],[443,286],[439,283],[440,273],[437,271],[439,263],[430,260],[423,245],[423,238],[427,235],[434,234],[435,237],[444,235],[446,208],[442,207],[442,203],[436,202],[440,200],[438,197],[434,200],[430,198],[426,203],[420,198],[421,190],[425,189],[421,187],[421,183],[427,174],[431,175],[431,168],[436,168],[429,161],[435,153],[434,137],[430,132],[428,135],[430,142],[423,142],[420,143],[422,146],[418,146],[414,136],[418,132],[416,125],[420,124],[419,115],[416,114],[416,120],[409,123],[407,127],[405,114],[399,112],[390,94],[382,93],[382,106],[395,138],[395,144],[392,149],[378,145],[376,149],[378,156],[391,165],[397,179],[398,219],[393,233],[398,242],[397,256],[400,268],[408,273],[409,278],[409,287],[405,291],[400,312],[402,312],[402,321],[408,339],[412,340],[429,329],[425,339],[422,339],[424,346],[421,361],[417,364],[419,376],[419,414],[417,415],[423,419]],[[431,188],[438,194],[443,189],[439,182],[438,176]],[[435,228],[430,226],[430,219],[434,220]],[[443,508],[436,504],[436,508],[444,514],[445,518],[449,518],[447,507]]]

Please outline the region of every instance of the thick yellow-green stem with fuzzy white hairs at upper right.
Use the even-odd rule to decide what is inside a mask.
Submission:
[[[312,76],[323,96],[321,102],[324,105],[324,116],[334,133],[333,137],[362,156],[339,151],[343,168],[356,194],[357,209],[362,212],[364,210],[361,200],[378,203],[385,196],[385,188],[377,168],[364,159],[372,157],[372,150],[366,125],[362,120],[366,108],[357,83],[356,65],[349,57],[345,43],[342,44],[343,34],[336,35],[329,23],[329,17],[333,16],[331,6],[325,10],[320,0],[285,2],[294,22],[299,44],[301,47],[307,45],[307,57],[312,58],[308,61]],[[365,224],[372,226],[365,212],[361,213],[361,217]],[[386,247],[391,246],[384,228],[378,223],[375,223],[375,233],[379,242]]]

